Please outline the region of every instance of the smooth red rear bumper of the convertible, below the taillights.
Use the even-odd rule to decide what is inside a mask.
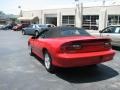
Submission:
[[[58,67],[80,67],[110,61],[115,55],[114,50],[78,53],[78,54],[58,54],[52,61]]]

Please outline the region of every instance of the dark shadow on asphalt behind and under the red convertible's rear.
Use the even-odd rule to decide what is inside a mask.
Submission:
[[[103,64],[99,64],[96,67],[59,69],[55,74],[70,83],[97,82],[119,75],[117,71]]]

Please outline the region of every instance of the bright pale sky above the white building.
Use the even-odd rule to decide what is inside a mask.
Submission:
[[[106,0],[113,1],[113,0]],[[118,0],[119,1],[119,0]],[[103,0],[79,0],[83,5],[102,5]],[[95,4],[96,3],[96,4]],[[40,10],[47,8],[74,7],[75,0],[0,0],[0,11],[6,14],[19,14],[21,6],[22,10]]]

